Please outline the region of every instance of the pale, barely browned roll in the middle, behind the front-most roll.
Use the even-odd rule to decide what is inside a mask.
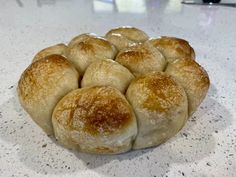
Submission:
[[[124,93],[133,78],[133,74],[119,63],[110,59],[99,60],[89,65],[81,87],[112,86]]]

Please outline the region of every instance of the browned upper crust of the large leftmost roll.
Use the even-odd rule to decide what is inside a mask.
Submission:
[[[60,76],[65,69],[74,68],[61,55],[50,55],[35,61],[23,72],[19,80],[18,91],[21,98],[25,101],[33,101],[35,96],[38,98],[35,93],[47,97],[49,93],[54,92],[54,85],[60,82]],[[75,74],[77,74],[76,70]],[[57,77],[58,80],[55,80]],[[52,78],[53,80],[50,80]]]

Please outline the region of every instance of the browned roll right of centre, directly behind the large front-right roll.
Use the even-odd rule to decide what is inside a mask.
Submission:
[[[138,44],[119,52],[116,61],[128,68],[135,76],[150,71],[163,71],[166,60],[155,47]]]

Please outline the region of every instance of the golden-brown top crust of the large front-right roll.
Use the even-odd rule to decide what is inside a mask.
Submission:
[[[183,88],[171,76],[162,72],[137,77],[133,84],[148,91],[142,107],[151,111],[168,112],[183,101],[185,94]]]

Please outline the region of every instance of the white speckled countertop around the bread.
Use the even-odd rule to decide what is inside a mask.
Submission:
[[[235,177],[236,9],[177,0],[138,0],[135,7],[130,0],[128,7],[124,0],[106,2],[0,0],[0,176]],[[184,129],[159,147],[117,156],[71,152],[22,110],[16,83],[40,49],[121,25],[190,41],[209,73],[209,94]]]

